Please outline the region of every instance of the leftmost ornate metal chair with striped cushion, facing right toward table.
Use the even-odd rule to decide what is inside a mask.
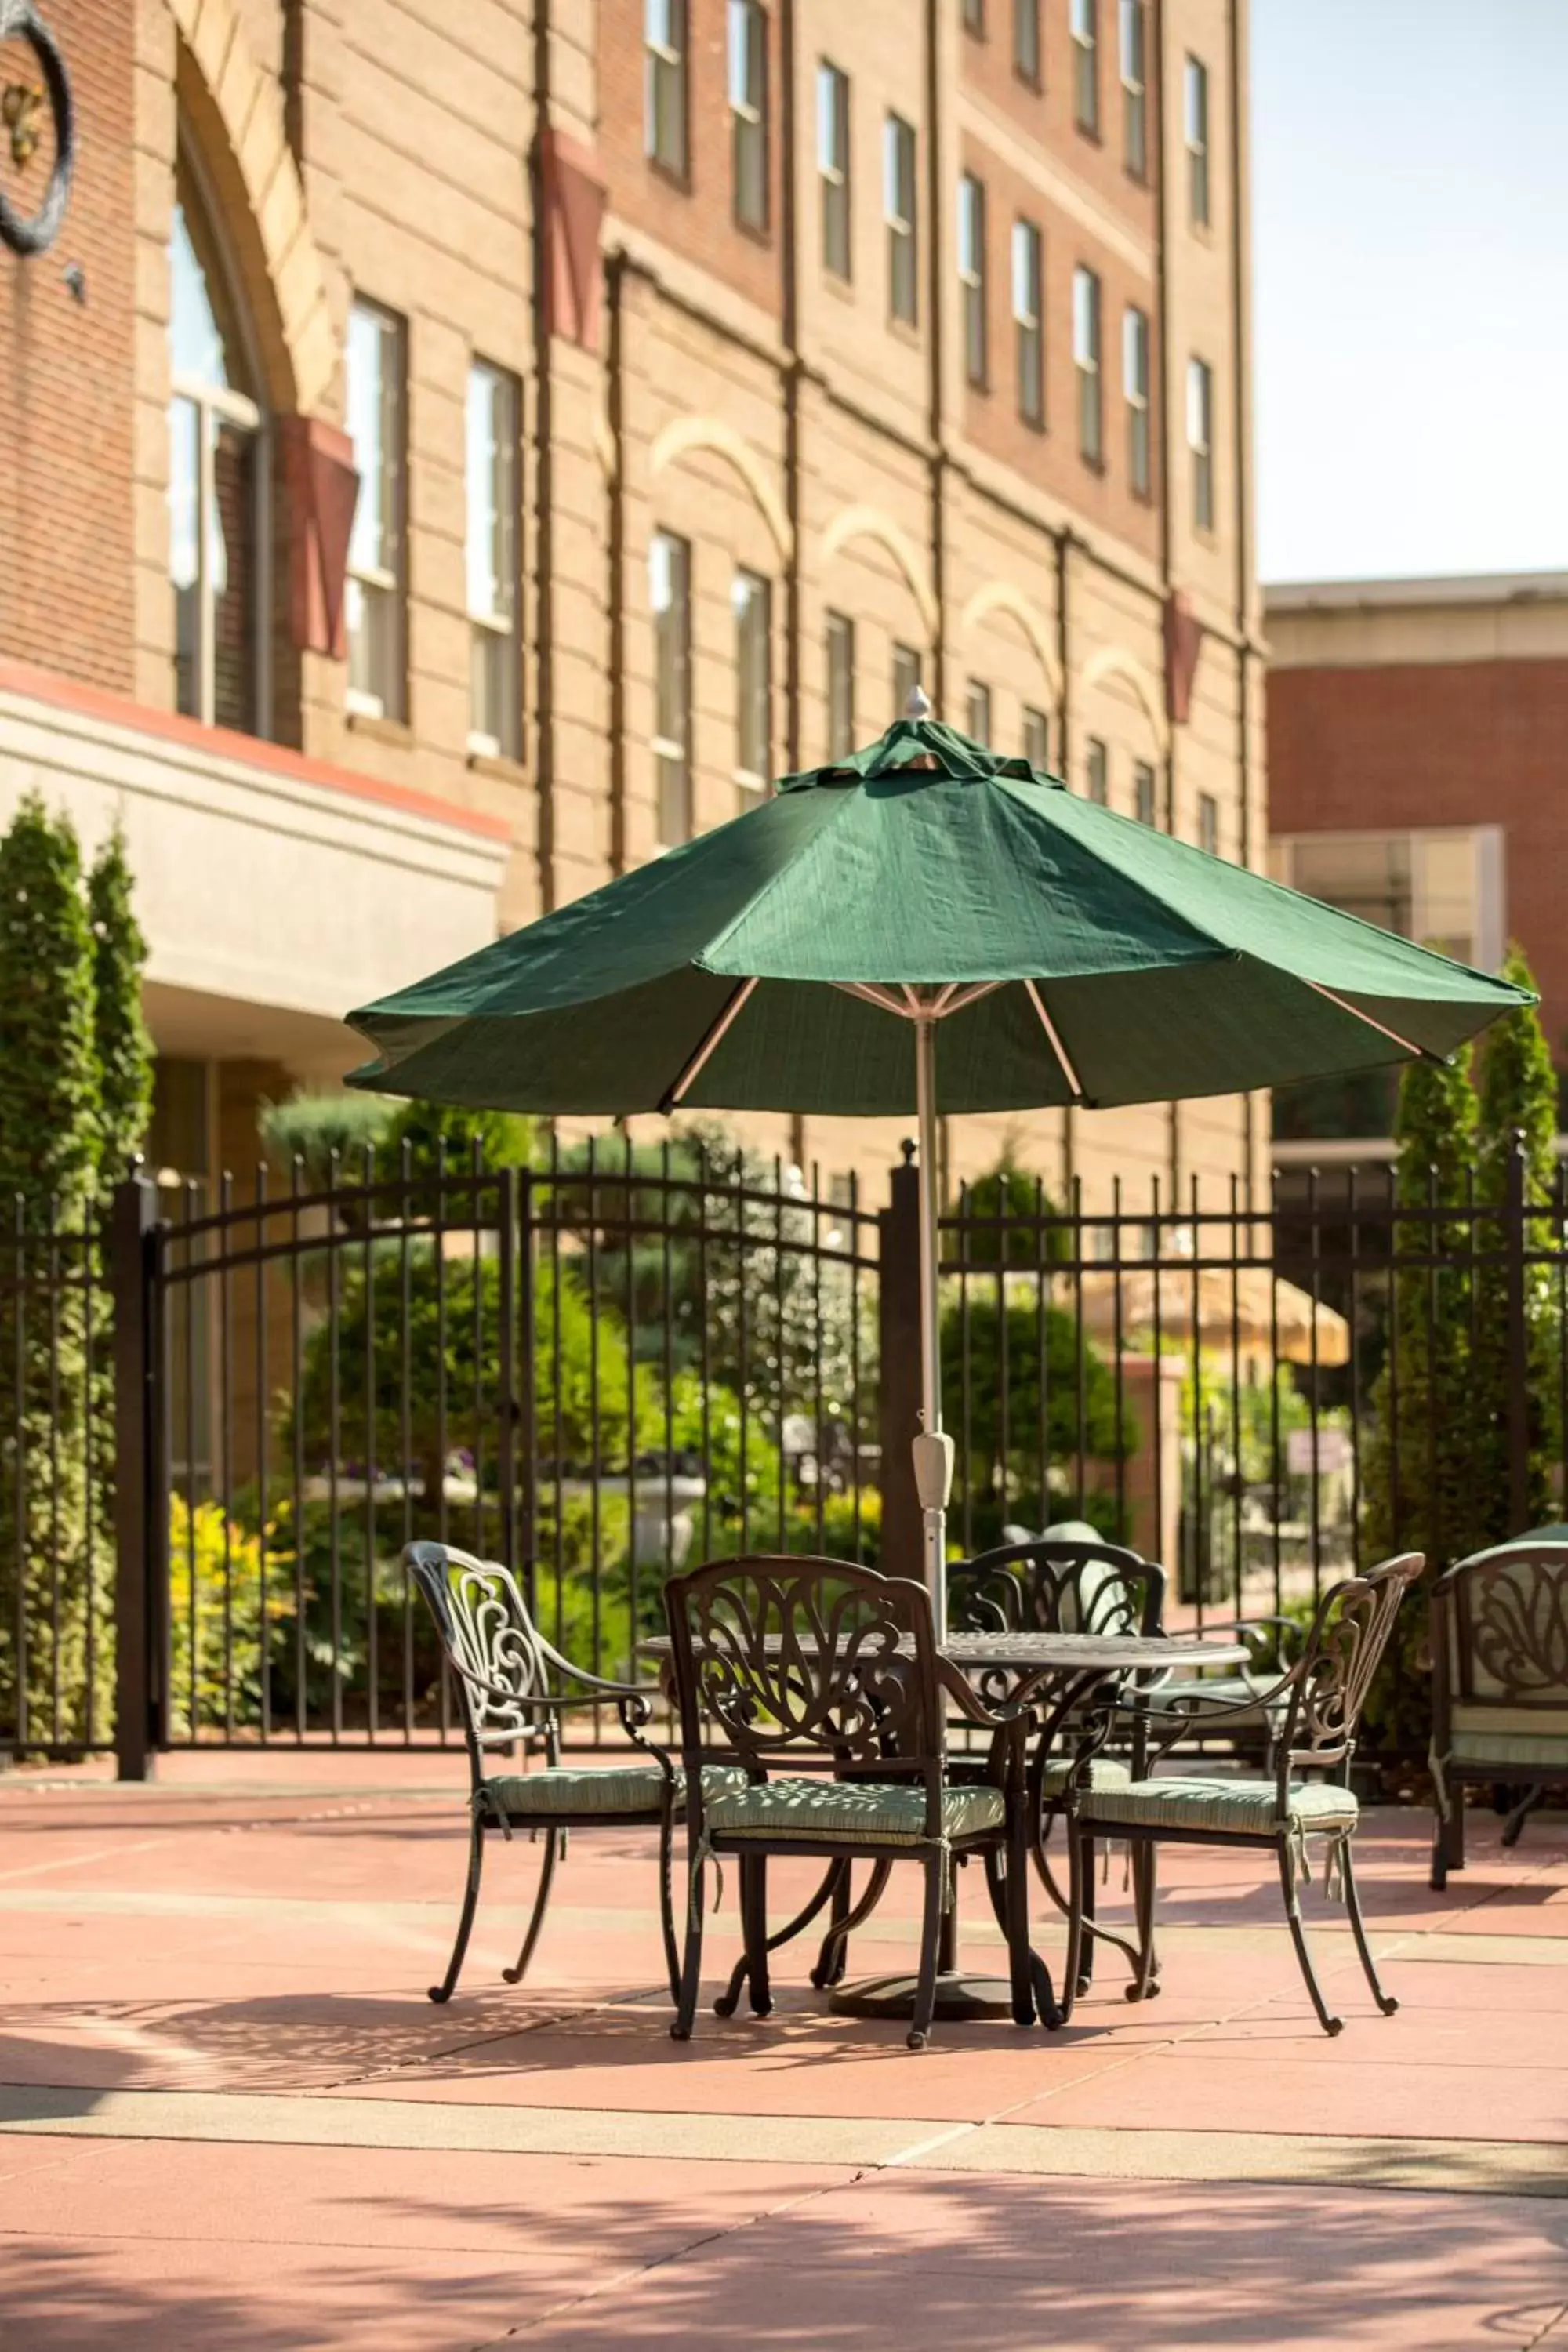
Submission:
[[[543,1860],[534,1915],[515,1969],[503,1969],[517,1985],[534,1957],[545,1924],[555,1863],[567,1844],[567,1830],[658,1830],[658,1903],[665,1943],[670,1997],[679,1992],[679,1955],[675,1943],[675,1907],[670,1900],[670,1828],[682,1799],[682,1776],[656,1748],[644,1726],[654,1712],[651,1693],[630,1682],[607,1682],[571,1665],[534,1625],[517,1578],[494,1559],[473,1559],[447,1543],[411,1543],[404,1562],[430,1604],[435,1630],[451,1665],[463,1708],[463,1738],[470,1771],[470,1846],[468,1882],[458,1931],[447,1962],[447,1976],[430,1985],[433,2002],[449,2002],[463,1966],[468,1936],[480,1903],[484,1839],[515,1830],[543,1835]],[[581,1684],[564,1691],[562,1684]],[[646,1762],[576,1769],[562,1764],[559,1717],[564,1708],[590,1708],[614,1700],[625,1736]],[[538,1759],[534,1769],[491,1771],[489,1752],[515,1750]],[[712,1785],[743,1785],[745,1773],[717,1769]]]

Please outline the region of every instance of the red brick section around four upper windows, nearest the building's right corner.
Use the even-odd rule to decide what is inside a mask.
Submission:
[[[976,47],[971,40],[969,47]],[[1159,555],[1159,350],[1154,346],[1154,282],[1126,266],[1074,219],[1046,202],[1018,172],[978,139],[964,134],[961,169],[985,186],[985,341],[990,386],[964,393],[964,430],[990,456],[1044,482],[1081,515],[1126,539],[1145,555]],[[1044,238],[1041,318],[1046,329],[1046,423],[1027,426],[1018,414],[1018,355],[1013,329],[1013,221],[1037,223]],[[1079,454],[1079,386],[1072,365],[1072,273],[1100,275],[1100,397],[1105,414],[1105,463],[1093,468]],[[1135,303],[1150,320],[1150,487],[1135,499],[1128,480],[1126,400],[1121,393],[1121,313]],[[954,315],[954,334],[961,313]]]

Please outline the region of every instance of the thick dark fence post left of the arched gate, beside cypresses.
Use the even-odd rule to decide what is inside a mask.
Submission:
[[[165,1616],[167,1512],[160,1519],[158,1185],[129,1176],[108,1216],[115,1312],[115,1776],[150,1780],[169,1743]]]

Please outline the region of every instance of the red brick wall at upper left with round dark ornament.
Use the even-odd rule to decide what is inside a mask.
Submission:
[[[129,5],[52,0],[47,24],[75,94],[71,202],[49,252],[0,245],[0,654],[122,694],[134,684],[134,193]],[[0,80],[38,85],[19,42]],[[35,212],[54,155],[24,174],[0,146],[7,195]],[[87,280],[78,303],[63,273]]]

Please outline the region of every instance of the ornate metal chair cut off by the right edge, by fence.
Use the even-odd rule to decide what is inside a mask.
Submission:
[[[1465,1867],[1465,1788],[1523,1788],[1519,1842],[1549,1788],[1568,1788],[1568,1543],[1521,1536],[1432,1588],[1432,1884]]]

